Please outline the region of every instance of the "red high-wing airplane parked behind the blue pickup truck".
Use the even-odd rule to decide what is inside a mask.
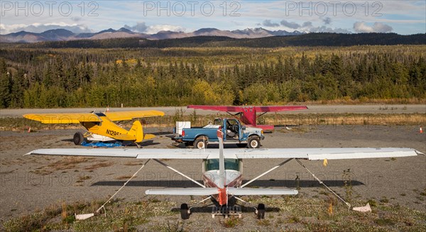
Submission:
[[[237,114],[231,114],[236,116],[241,115],[240,120],[245,123],[247,126],[255,126],[262,128],[263,131],[273,130],[273,125],[256,125],[256,113],[262,112],[266,114],[267,112],[276,112],[276,111],[296,111],[300,109],[307,109],[307,106],[204,106],[204,105],[190,105],[187,106],[188,109],[203,109],[210,111],[225,111],[228,114],[229,112],[238,112]],[[263,114],[258,115],[263,116]]]

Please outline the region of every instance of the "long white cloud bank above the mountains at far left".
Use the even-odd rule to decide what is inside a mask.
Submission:
[[[1,23],[0,33],[2,35],[18,32],[18,31],[42,33],[44,31],[58,29],[58,28],[72,31],[73,33],[92,32],[87,26],[84,26],[82,24],[77,24],[77,23],[67,24],[64,22],[60,22],[60,23],[45,23],[45,24],[32,23],[32,24],[11,24],[11,25],[6,25]]]

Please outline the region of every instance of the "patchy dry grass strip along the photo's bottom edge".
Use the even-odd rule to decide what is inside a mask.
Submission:
[[[246,199],[246,198],[245,198]],[[244,219],[212,219],[209,211],[195,212],[189,220],[180,220],[180,202],[143,201],[126,202],[113,200],[107,204],[107,216],[94,216],[84,221],[75,221],[74,214],[96,211],[104,200],[89,203],[77,202],[50,206],[26,216],[3,222],[5,231],[209,231],[238,228],[240,231],[389,231],[394,226],[398,231],[424,231],[426,211],[405,206],[368,201],[373,211],[361,213],[349,211],[339,201],[333,204],[333,214],[328,211],[329,202],[310,197],[261,198],[251,197],[249,203],[266,204],[267,219],[258,220],[252,212],[244,211]],[[365,205],[354,200],[354,205]],[[288,216],[283,216],[288,215]],[[197,223],[202,221],[202,223]],[[246,226],[249,227],[246,227]],[[211,227],[214,226],[214,227]],[[219,226],[219,227],[217,227]]]

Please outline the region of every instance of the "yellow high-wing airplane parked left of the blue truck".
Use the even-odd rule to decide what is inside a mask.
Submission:
[[[148,111],[118,111],[104,113],[72,113],[72,114],[25,114],[28,118],[40,123],[81,123],[87,129],[86,133],[77,132],[74,135],[75,145],[80,145],[84,140],[109,141],[123,140],[139,143],[144,139],[154,138],[154,135],[143,134],[143,128],[140,121],[134,121],[130,130],[114,123],[114,121],[133,120],[135,118],[146,118],[153,116],[164,116],[164,112]]]

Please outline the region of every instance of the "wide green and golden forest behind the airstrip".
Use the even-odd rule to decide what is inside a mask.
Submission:
[[[425,99],[425,46],[0,49],[0,107]]]

